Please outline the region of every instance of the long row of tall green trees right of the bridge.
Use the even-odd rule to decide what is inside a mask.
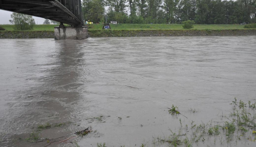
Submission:
[[[105,9],[108,8],[108,9]],[[84,20],[119,23],[256,22],[256,0],[83,0]]]

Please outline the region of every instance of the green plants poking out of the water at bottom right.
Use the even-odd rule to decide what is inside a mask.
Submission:
[[[247,106],[248,104],[248,106]],[[182,130],[188,130],[188,125],[185,124],[185,128],[182,127],[181,119],[180,129],[178,133],[173,133],[168,137],[157,137],[157,141],[153,143],[169,143],[171,146],[193,146],[193,143],[204,142],[207,139],[214,137],[214,144],[216,144],[216,137],[220,138],[220,143],[224,142],[223,138],[226,138],[225,142],[236,142],[242,138],[248,141],[256,141],[256,114],[255,103],[248,101],[248,103],[242,100],[234,98],[231,105],[233,105],[233,112],[229,116],[222,116],[226,119],[223,122],[218,122],[216,125],[212,125],[212,121],[208,123],[194,124],[191,122],[191,133],[182,134]],[[195,110],[195,109],[194,109]],[[168,110],[170,114],[180,114],[178,107],[172,105],[172,109]],[[193,111],[193,109],[191,109]],[[187,131],[188,132],[188,131]],[[226,137],[225,137],[226,136]]]

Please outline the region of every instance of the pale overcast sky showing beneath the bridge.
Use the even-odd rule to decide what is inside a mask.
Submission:
[[[11,24],[9,20],[11,19],[12,13],[13,12],[10,11],[0,10],[0,24]],[[35,19],[36,24],[43,24],[43,22],[45,21],[45,19],[41,17],[33,16],[33,18]]]

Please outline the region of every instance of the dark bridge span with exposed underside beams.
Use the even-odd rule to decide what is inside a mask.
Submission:
[[[0,0],[0,9],[42,17],[72,26],[83,25],[81,2],[77,0]]]

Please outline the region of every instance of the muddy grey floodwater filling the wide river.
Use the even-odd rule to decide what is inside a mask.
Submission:
[[[223,122],[234,97],[256,102],[255,40],[0,39],[0,146],[155,146],[154,138],[179,131],[179,119],[183,127]],[[169,114],[172,104],[188,118]],[[68,138],[89,126],[92,132],[51,144],[24,141],[47,123],[40,138]],[[205,139],[193,146],[218,146]],[[255,146],[241,140],[225,146]]]

